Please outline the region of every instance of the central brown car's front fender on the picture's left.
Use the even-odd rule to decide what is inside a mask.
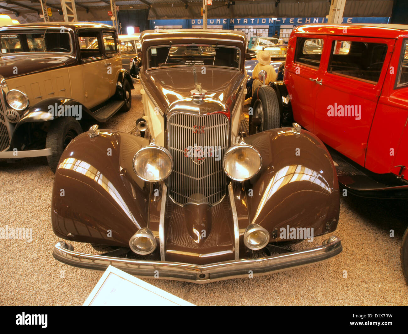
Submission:
[[[51,201],[54,233],[72,241],[129,245],[148,224],[150,187],[133,171],[133,156],[147,139],[100,130],[82,133],[62,153]]]

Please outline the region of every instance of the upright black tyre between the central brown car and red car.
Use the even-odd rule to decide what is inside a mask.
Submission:
[[[257,88],[253,92],[252,106],[253,115],[249,115],[249,124],[251,125],[252,117],[260,119],[260,124],[256,126],[254,133],[280,127],[279,100],[275,89],[270,86]]]

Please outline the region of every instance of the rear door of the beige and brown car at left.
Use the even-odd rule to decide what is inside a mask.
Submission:
[[[122,58],[120,56],[118,46],[118,36],[113,31],[104,31],[102,33],[104,41],[104,76],[109,82],[109,97],[115,95],[116,83],[119,77],[119,72],[122,69]]]

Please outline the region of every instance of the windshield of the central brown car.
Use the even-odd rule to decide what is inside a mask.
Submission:
[[[228,46],[158,46],[147,51],[149,68],[202,65],[239,69],[240,51]]]

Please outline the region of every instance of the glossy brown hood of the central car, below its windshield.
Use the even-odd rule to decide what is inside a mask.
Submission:
[[[207,91],[206,97],[212,97],[226,104],[233,111],[240,88],[244,86],[246,74],[238,70],[206,67],[205,73],[197,66],[197,82]],[[192,97],[195,89],[192,67],[173,67],[154,69],[141,73],[141,81],[149,95],[166,113],[167,108],[175,101]]]

